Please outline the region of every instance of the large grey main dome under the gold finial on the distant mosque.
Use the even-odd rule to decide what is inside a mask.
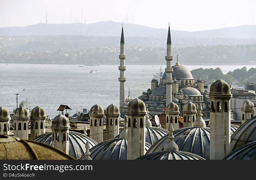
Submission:
[[[176,79],[194,79],[188,68],[181,65],[175,65],[175,66],[172,66],[172,68],[173,68],[172,76],[175,77]]]

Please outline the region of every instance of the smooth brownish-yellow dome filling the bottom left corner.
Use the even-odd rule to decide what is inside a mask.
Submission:
[[[46,144],[2,134],[0,149],[0,159],[74,159]]]

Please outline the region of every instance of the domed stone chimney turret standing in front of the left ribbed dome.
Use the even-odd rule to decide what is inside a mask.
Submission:
[[[69,149],[69,120],[64,116],[64,113],[57,115],[51,122],[51,146],[57,148],[66,154]]]

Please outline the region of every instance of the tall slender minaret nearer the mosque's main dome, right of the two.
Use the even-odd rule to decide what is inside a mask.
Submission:
[[[168,29],[168,36],[167,36],[167,53],[166,53],[166,106],[172,102],[172,40],[171,40],[171,32],[170,32],[170,23]]]

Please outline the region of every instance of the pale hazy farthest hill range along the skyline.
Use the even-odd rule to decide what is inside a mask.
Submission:
[[[124,23],[126,37],[166,38],[167,29],[150,28],[136,24]],[[167,28],[167,27],[166,27]],[[26,27],[0,28],[0,36],[51,36],[51,35],[83,35],[83,36],[120,36],[121,23],[101,21],[92,24],[35,24]],[[256,25],[245,25],[214,30],[187,32],[172,30],[176,38],[230,38],[256,39]]]

